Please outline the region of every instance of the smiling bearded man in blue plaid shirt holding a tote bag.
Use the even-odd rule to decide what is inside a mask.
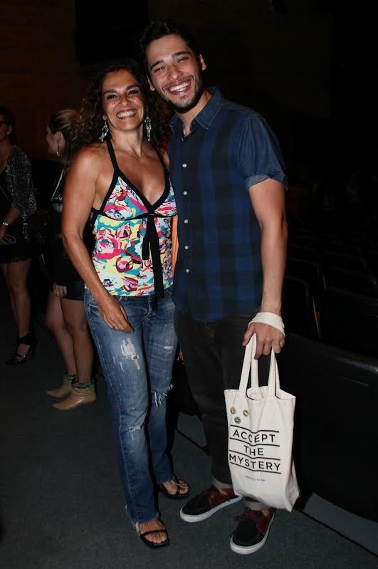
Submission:
[[[265,120],[204,87],[206,63],[186,29],[151,22],[140,47],[150,88],[175,112],[169,141],[179,213],[175,325],[213,477],[180,512],[196,522],[241,499],[231,485],[224,390],[238,387],[243,346],[253,333],[256,357],[279,353],[284,344],[287,181]],[[241,554],[264,545],[274,515],[269,504],[248,500],[245,506],[231,538],[231,549]]]

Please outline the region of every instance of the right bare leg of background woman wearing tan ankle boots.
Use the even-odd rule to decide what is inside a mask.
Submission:
[[[83,301],[61,299],[65,325],[72,338],[78,383],[92,380],[93,343],[88,331]]]

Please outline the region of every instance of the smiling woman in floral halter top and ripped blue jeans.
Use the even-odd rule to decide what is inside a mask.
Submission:
[[[169,544],[155,490],[187,498],[167,456],[166,404],[177,348],[172,302],[176,204],[148,90],[134,61],[107,67],[85,102],[90,145],[68,172],[63,240],[85,281],[85,307],[112,409],[126,512],[143,543]],[[100,139],[100,140],[99,140]],[[83,228],[92,215],[92,259]]]

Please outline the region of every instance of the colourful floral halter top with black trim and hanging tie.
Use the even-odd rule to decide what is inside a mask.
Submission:
[[[164,295],[172,285],[172,217],[176,202],[167,168],[162,196],[150,204],[117,165],[100,209],[93,209],[93,266],[107,291],[115,296]]]

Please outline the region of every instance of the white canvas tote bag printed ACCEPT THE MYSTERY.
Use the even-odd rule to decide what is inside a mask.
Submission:
[[[258,386],[255,353],[254,334],[246,346],[239,389],[224,391],[233,491],[291,511],[299,496],[292,456],[295,397],[280,389],[273,350],[268,385]]]

